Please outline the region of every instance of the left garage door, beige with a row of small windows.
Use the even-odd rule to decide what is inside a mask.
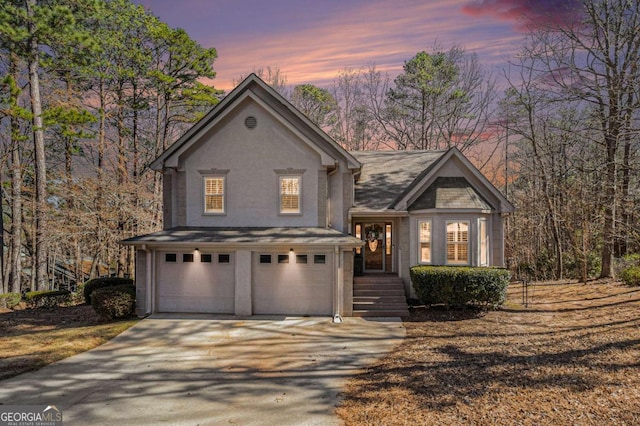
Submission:
[[[158,312],[233,313],[233,253],[159,252]]]

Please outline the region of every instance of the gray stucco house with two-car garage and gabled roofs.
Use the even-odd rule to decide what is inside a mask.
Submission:
[[[339,319],[358,314],[354,275],[404,300],[412,265],[504,263],[514,208],[457,149],[347,152],[253,74],[151,168],[164,229],[123,241],[141,316]]]

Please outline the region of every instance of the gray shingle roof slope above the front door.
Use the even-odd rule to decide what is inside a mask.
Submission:
[[[445,151],[352,151],[362,172],[355,185],[354,211],[392,207]]]

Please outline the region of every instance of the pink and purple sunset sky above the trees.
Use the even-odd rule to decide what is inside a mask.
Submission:
[[[500,75],[518,52],[525,19],[559,19],[576,0],[135,0],[204,47],[215,47],[215,87],[278,67],[287,83],[328,86],[345,67],[404,61],[463,46]]]

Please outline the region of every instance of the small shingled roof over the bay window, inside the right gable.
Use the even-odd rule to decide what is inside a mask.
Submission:
[[[491,206],[464,177],[439,177],[409,206],[421,209],[491,210]]]

